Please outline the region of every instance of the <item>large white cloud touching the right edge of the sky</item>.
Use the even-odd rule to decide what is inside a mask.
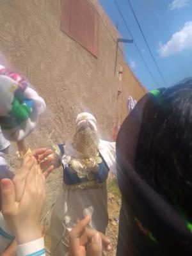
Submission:
[[[165,58],[189,48],[192,48],[192,20],[186,22],[180,31],[174,33],[166,44],[159,43],[157,52]]]

